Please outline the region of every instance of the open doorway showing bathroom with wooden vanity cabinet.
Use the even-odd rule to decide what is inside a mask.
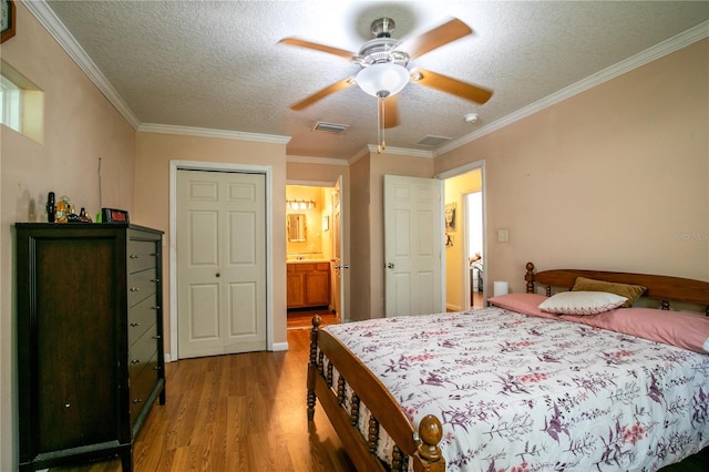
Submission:
[[[312,316],[340,322],[332,261],[339,255],[338,186],[286,186],[288,329],[311,327]],[[337,226],[337,227],[336,227]]]

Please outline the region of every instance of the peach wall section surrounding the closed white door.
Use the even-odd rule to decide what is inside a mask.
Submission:
[[[165,349],[171,346],[169,162],[248,164],[271,167],[274,343],[286,342],[286,145],[228,138],[138,132],[136,137],[135,214],[163,238]]]

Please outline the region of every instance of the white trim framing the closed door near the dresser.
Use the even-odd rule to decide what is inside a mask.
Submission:
[[[264,174],[266,177],[266,349],[274,347],[274,258],[273,258],[273,167],[223,162],[169,161],[169,353],[168,361],[177,356],[177,171],[213,171],[245,174]]]

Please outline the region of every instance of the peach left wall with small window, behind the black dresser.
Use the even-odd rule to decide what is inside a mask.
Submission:
[[[134,209],[135,130],[24,8],[18,32],[2,44],[2,60],[44,92],[43,144],[0,125],[0,470],[18,466],[16,222],[47,222],[50,191],[68,195],[95,216],[103,205]],[[34,212],[31,207],[34,207]],[[33,213],[34,216],[31,216]],[[71,287],[80,290],[80,287]]]

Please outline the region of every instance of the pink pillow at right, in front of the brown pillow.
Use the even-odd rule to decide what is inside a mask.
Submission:
[[[633,307],[584,317],[564,315],[562,318],[695,352],[709,352],[706,349],[709,347],[709,317],[702,315]]]

